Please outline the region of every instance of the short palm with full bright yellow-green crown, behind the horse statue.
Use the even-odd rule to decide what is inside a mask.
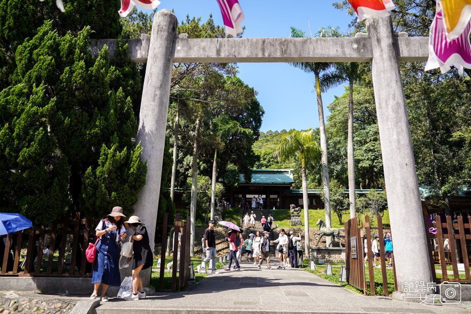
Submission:
[[[273,156],[280,162],[289,161],[295,155],[301,157],[301,175],[302,175],[302,202],[304,207],[304,245],[306,254],[309,252],[309,208],[307,204],[307,179],[306,179],[306,160],[314,163],[321,161],[322,150],[314,137],[314,131],[309,128],[307,131],[292,131],[283,135],[281,143],[275,150]]]

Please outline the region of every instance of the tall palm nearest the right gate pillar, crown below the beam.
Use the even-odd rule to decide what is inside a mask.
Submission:
[[[356,62],[336,63],[334,69],[322,76],[323,88],[330,88],[347,81],[350,88],[348,100],[348,195],[350,199],[350,218],[356,216],[355,202],[355,159],[353,151],[353,84],[361,79],[359,64]]]

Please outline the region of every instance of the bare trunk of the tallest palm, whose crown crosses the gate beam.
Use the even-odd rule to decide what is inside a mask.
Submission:
[[[330,214],[330,183],[329,183],[329,158],[327,154],[326,125],[324,123],[324,107],[322,104],[321,84],[319,73],[316,73],[317,107],[319,110],[319,131],[321,133],[321,164],[322,164],[322,185],[324,189],[324,211],[326,213],[326,227],[332,228]],[[332,237],[326,237],[326,245],[329,245]]]

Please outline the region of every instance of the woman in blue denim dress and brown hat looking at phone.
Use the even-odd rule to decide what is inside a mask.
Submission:
[[[96,259],[91,277],[94,289],[90,299],[98,297],[100,283],[103,284],[100,298],[103,302],[108,301],[106,296],[108,287],[119,286],[121,284],[119,248],[117,243],[126,236],[124,218],[126,216],[123,214],[123,208],[115,206],[107,218],[102,219],[95,228],[96,236],[100,237],[100,240],[96,244]]]

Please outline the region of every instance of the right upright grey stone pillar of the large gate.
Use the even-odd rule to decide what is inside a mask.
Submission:
[[[393,298],[403,300],[404,283],[430,283],[432,273],[391,17],[368,18],[367,31],[393,234],[398,288]]]

